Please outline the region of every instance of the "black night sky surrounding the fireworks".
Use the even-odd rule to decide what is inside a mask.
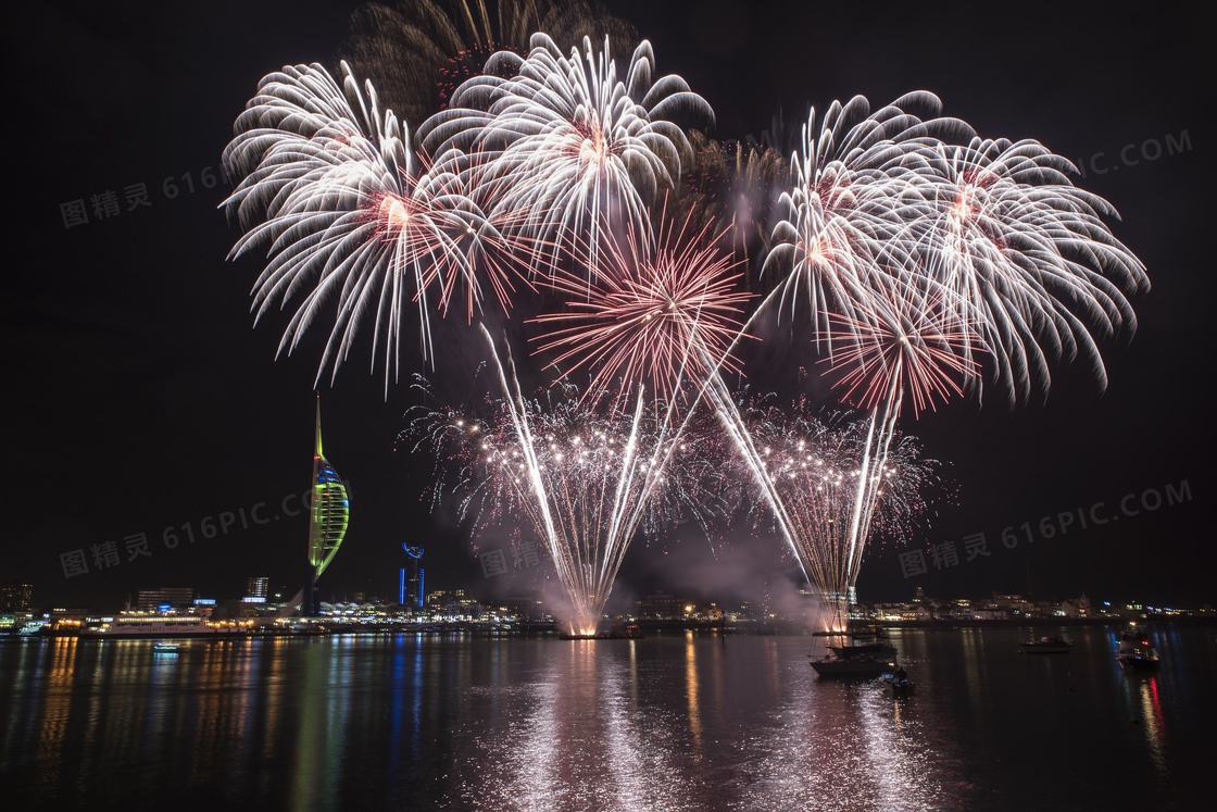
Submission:
[[[217,170],[258,79],[329,60],[354,5],[28,4],[7,27],[7,174],[18,203],[4,297],[10,519],[0,582],[33,582],[38,604],[116,606],[153,586],[225,597],[251,575],[275,586],[298,576],[308,527],[281,504],[308,486],[319,355],[314,343],[275,360],[286,319],[252,329],[260,263],[225,262],[237,231],[217,211],[223,185],[204,187],[204,172]],[[1212,136],[1198,113],[1210,106],[1212,72],[1195,21],[1066,4],[905,4],[891,13],[803,2],[608,6],[651,39],[662,73],[680,73],[710,101],[718,138],[759,135],[779,110],[797,125],[808,103],[863,94],[877,105],[926,89],[983,136],[1034,138],[1090,162],[1103,172],[1088,170],[1079,185],[1120,209],[1116,236],[1149,269],[1152,291],[1133,301],[1135,337],[1103,346],[1106,392],[1088,370],[1061,368],[1047,404],[1011,413],[996,399],[960,403],[903,421],[950,463],[958,486],[920,548],[954,541],[963,550],[964,536],[985,532],[992,555],[905,578],[902,550],[876,547],[859,583],[864,600],[924,586],[947,597],[1030,588],[1037,598],[1086,590],[1099,600],[1213,603],[1213,369],[1202,331],[1212,234],[1201,202]],[[1182,149],[1168,153],[1168,139]],[[1126,145],[1134,146],[1122,162]],[[1161,155],[1149,159],[1155,145]],[[128,211],[125,187],[140,183],[150,205]],[[90,198],[107,191],[120,213],[99,220]],[[89,222],[65,228],[61,206],[77,200]],[[459,391],[481,360],[478,345],[459,323],[441,334],[436,375]],[[427,548],[428,587],[511,589],[484,579],[460,530],[420,500],[430,461],[394,452],[411,393],[403,382],[386,402],[366,360],[365,343],[323,390],[327,457],[352,482],[354,511],[325,592],[396,594],[408,539]],[[752,359],[750,381],[767,388],[768,376],[812,363],[774,338]],[[1184,481],[1190,499],[1167,505],[1167,486]],[[1014,549],[999,541],[1004,527],[1038,527],[1100,502],[1099,515],[1117,513],[1126,494],[1132,508],[1150,489],[1163,497],[1157,510],[1100,527],[1075,521],[1051,539],[1037,530],[1037,541]],[[247,527],[237,519],[202,538],[204,517],[263,502],[277,519]],[[183,539],[173,549],[167,527]],[[138,533],[151,555],[128,560],[124,539]],[[729,536],[714,542],[717,561],[695,534],[636,545],[621,595],[667,586],[748,597],[770,572],[790,575],[776,541],[744,528]],[[120,564],[99,571],[89,550],[107,541]],[[65,578],[60,556],[77,549],[90,571]]]

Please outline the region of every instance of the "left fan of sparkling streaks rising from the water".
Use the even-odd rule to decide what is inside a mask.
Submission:
[[[563,387],[555,402],[528,401],[507,353],[499,360],[505,398],[489,420],[431,413],[414,427],[437,450],[459,438],[462,515],[523,514],[544,539],[571,601],[570,631],[595,634],[613,579],[635,532],[654,533],[689,511],[705,527],[722,514],[725,477],[696,457],[695,438],[682,435],[671,404],[646,403],[633,413],[599,409]],[[416,421],[417,422],[417,421]],[[475,510],[475,505],[479,505]]]

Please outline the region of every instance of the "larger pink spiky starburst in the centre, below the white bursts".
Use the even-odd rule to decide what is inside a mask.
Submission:
[[[549,281],[567,297],[567,309],[533,320],[566,326],[539,336],[538,352],[559,351],[554,363],[573,362],[572,371],[587,368],[589,393],[619,379],[621,396],[639,381],[668,399],[683,380],[701,380],[719,365],[736,369],[729,348],[751,296],[738,289],[738,263],[710,226],[661,223],[655,250],[629,229],[624,239],[606,241],[590,280],[581,268],[555,269]]]

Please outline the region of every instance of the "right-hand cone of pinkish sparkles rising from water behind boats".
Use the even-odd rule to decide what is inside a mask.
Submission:
[[[820,421],[802,402],[793,409],[746,408],[744,414],[748,436],[759,447],[762,475],[791,523],[798,561],[828,604],[825,626],[842,629],[849,587],[862,565],[851,526],[870,421],[842,415]],[[912,522],[925,510],[924,492],[936,467],[935,460],[921,458],[914,438],[894,441],[875,483],[875,536],[908,538]]]

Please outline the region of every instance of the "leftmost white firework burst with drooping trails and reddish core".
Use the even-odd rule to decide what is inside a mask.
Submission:
[[[280,341],[288,354],[330,299],[337,318],[318,380],[347,359],[364,317],[375,310],[372,366],[382,340],[385,386],[400,360],[404,307],[419,308],[424,357],[432,357],[427,289],[445,310],[458,280],[467,314],[481,307],[482,280],[504,309],[518,268],[512,252],[532,246],[509,236],[510,215],[488,215],[465,183],[476,157],[452,151],[416,159],[409,130],[382,111],[342,63],[342,86],[320,65],[285,67],[262,79],[234,124],[224,166],[242,178],[223,203],[248,231],[230,258],[268,246],[270,261],[254,285],[254,323],[307,291]],[[523,278],[520,276],[522,280]],[[312,290],[309,287],[312,286]]]

